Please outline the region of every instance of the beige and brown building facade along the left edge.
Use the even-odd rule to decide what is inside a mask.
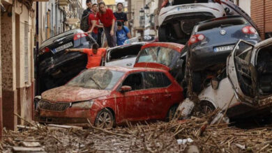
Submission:
[[[6,129],[16,130],[17,124],[24,124],[24,121],[18,120],[15,114],[26,120],[32,119],[36,3],[2,0],[1,5],[0,95],[3,117],[0,120]]]

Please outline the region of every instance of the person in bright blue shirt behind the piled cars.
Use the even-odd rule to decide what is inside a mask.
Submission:
[[[128,27],[123,26],[122,22],[117,22],[116,42],[117,45],[123,45],[123,42],[131,38]]]

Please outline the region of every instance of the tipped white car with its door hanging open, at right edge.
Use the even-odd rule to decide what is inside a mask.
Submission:
[[[226,69],[227,77],[213,79],[199,94],[204,113],[222,108],[236,119],[272,115],[272,38],[256,45],[239,40]]]

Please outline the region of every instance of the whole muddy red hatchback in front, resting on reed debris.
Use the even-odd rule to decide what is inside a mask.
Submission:
[[[153,68],[94,67],[34,100],[42,123],[100,128],[141,120],[165,120],[183,100],[169,72]]]

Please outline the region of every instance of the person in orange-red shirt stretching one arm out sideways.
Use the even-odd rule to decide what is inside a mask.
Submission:
[[[87,54],[88,62],[86,69],[91,67],[97,67],[101,65],[102,58],[105,57],[107,49],[98,48],[98,44],[93,44],[92,49],[66,49],[65,51],[79,51],[81,53]]]

